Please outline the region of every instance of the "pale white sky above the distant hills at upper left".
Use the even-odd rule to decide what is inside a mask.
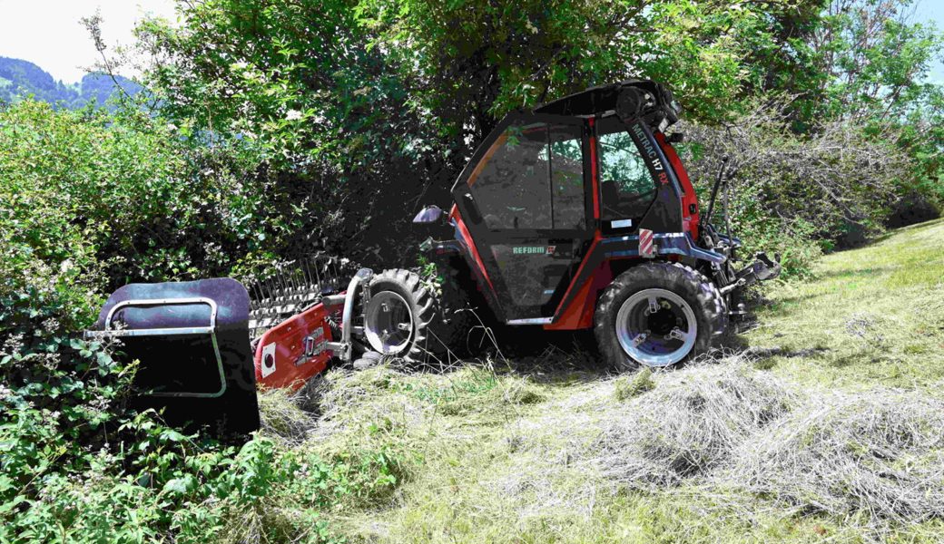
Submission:
[[[176,20],[173,0],[0,0],[0,57],[29,60],[56,79],[75,83],[99,58],[78,22],[95,9],[101,11],[102,37],[110,47],[132,43],[131,29],[145,13]]]

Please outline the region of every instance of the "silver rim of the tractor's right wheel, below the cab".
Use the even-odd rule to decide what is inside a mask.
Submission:
[[[648,367],[665,367],[692,351],[698,321],[692,306],[660,288],[633,293],[616,313],[616,338],[623,351]]]

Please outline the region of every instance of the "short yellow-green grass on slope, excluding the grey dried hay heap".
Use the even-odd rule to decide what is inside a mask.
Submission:
[[[812,388],[939,387],[942,248],[944,222],[925,223],[823,258],[815,280],[770,289],[758,326],[742,337],[754,349],[777,348],[755,368]],[[628,378],[581,357],[558,354],[515,371],[495,363],[443,375],[331,374],[328,415],[310,444],[388,445],[408,452],[412,467],[390,500],[339,508],[333,526],[371,542],[862,539],[861,517],[799,516],[698,480],[647,491],[615,485],[581,452]],[[938,521],[885,534],[942,536]]]

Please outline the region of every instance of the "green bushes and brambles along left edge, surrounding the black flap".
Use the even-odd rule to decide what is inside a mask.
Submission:
[[[244,158],[137,113],[0,109],[0,541],[328,542],[323,511],[399,484],[387,450],[183,436],[127,409],[115,346],[78,337],[127,281],[268,258],[282,226],[257,220]]]

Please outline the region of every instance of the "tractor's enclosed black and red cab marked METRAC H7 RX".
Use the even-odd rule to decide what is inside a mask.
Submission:
[[[450,219],[501,321],[588,326],[567,314],[603,261],[638,257],[641,231],[697,239],[695,191],[664,134],[678,112],[663,86],[627,81],[497,125],[456,181]]]

